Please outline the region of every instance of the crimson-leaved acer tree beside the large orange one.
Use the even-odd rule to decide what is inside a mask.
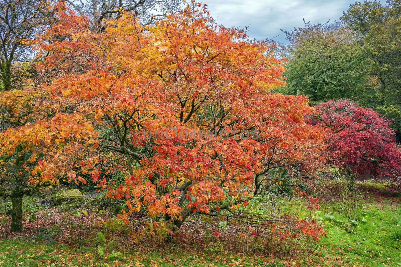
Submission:
[[[396,178],[401,151],[391,122],[369,108],[348,100],[330,100],[315,106],[310,122],[328,129],[326,143],[332,163],[342,167],[351,187],[355,177],[370,173]]]

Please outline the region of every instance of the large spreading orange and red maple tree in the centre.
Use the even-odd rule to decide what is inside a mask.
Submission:
[[[128,214],[144,209],[175,227],[194,213],[235,216],[269,190],[271,170],[319,162],[323,132],[304,120],[307,98],[269,92],[284,85],[271,44],[216,25],[205,5],[148,26],[126,12],[103,32],[59,16],[41,44],[42,69],[59,77],[46,88],[101,129],[99,149],[126,161],[125,184],[107,197],[125,199]]]

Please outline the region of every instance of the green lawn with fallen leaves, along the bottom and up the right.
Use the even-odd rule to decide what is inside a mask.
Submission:
[[[299,203],[298,203],[299,204]],[[333,205],[336,205],[333,207]],[[298,260],[271,259],[250,254],[188,252],[173,246],[168,251],[156,248],[121,249],[119,257],[99,257],[95,245],[75,250],[65,245],[41,245],[28,239],[0,241],[0,267],[8,266],[320,266],[320,267],[397,267],[401,266],[401,198],[360,199],[356,205],[357,225],[339,211],[336,201],[311,213],[292,201],[283,209],[296,211],[302,218],[314,217],[327,230],[316,251]],[[365,222],[366,220],[366,222]]]

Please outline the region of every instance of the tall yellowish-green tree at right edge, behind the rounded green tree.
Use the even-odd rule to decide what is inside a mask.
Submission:
[[[401,131],[401,1],[356,2],[341,20],[357,34],[369,58],[370,91],[361,104],[393,120]]]

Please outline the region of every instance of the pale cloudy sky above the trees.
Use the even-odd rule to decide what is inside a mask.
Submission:
[[[356,0],[203,0],[217,24],[225,27],[248,26],[251,39],[265,40],[274,36],[286,42],[280,31],[303,26],[302,18],[316,24],[338,20]]]

